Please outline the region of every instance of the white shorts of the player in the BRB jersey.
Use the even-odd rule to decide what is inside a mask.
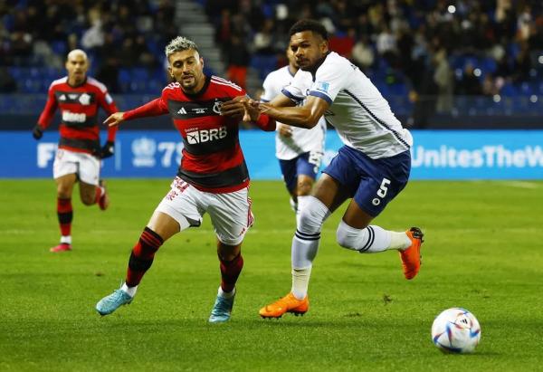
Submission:
[[[242,243],[254,221],[248,187],[233,193],[207,193],[177,176],[156,210],[171,216],[181,226],[186,225],[186,221],[199,226],[207,212],[217,238],[226,245]]]

